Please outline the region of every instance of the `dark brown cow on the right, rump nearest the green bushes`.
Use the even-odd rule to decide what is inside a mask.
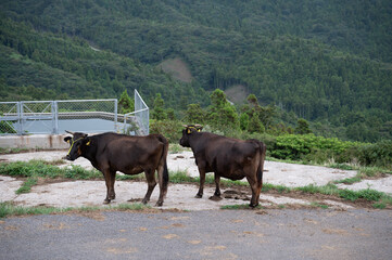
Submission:
[[[257,140],[237,140],[210,132],[201,132],[199,125],[184,126],[179,144],[191,147],[200,173],[200,187],[195,197],[203,196],[206,172],[214,172],[215,193],[220,196],[220,177],[230,180],[246,178],[252,188],[251,207],[258,205],[263,186],[263,167],[266,146]]]

